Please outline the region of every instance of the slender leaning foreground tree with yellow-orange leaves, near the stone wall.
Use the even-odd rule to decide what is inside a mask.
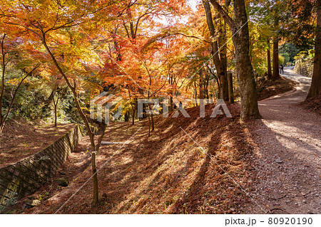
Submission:
[[[93,127],[84,111],[85,106],[81,105],[83,90],[94,92],[100,89],[98,84],[91,83],[91,79],[97,77],[93,72],[98,68],[99,58],[95,52],[96,43],[88,37],[88,33],[94,35],[97,31],[90,19],[106,19],[107,13],[108,18],[113,19],[121,14],[119,6],[122,6],[122,2],[116,6],[116,3],[106,1],[95,1],[92,4],[86,1],[3,1],[0,6],[1,24],[21,29],[21,36],[29,41],[34,52],[41,49],[46,53],[46,63],[54,65],[73,94],[78,114],[86,125],[91,142],[93,204],[98,203],[96,153],[105,130],[96,144]],[[103,129],[106,129],[106,125]]]

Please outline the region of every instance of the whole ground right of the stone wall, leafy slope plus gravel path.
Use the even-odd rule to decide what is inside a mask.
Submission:
[[[100,203],[91,205],[87,137],[53,177],[9,213],[321,213],[321,118],[297,103],[310,78],[285,70],[295,90],[259,102],[261,120],[211,118],[213,105],[190,118],[156,117],[108,126],[97,158]],[[64,178],[68,186],[54,179]],[[30,208],[26,201],[39,199]],[[7,211],[6,211],[7,212]]]

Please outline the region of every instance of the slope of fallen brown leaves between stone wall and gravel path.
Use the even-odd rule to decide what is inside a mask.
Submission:
[[[44,196],[45,201],[24,212],[242,213],[251,201],[245,191],[251,190],[254,177],[250,165],[252,141],[247,126],[239,120],[238,104],[229,105],[233,118],[210,118],[213,107],[206,106],[205,118],[198,117],[199,107],[187,110],[190,118],[157,117],[156,130],[149,138],[146,121],[134,126],[111,125],[105,141],[130,139],[130,143],[101,148],[97,160],[101,168],[99,206],[91,206],[91,181],[81,188],[91,176],[87,168],[68,176],[66,188],[54,189],[49,182],[44,189],[51,192]],[[88,145],[88,139],[83,140],[75,152],[78,158],[71,158],[61,171],[75,171],[88,163],[88,156],[81,158]],[[41,194],[44,191],[34,198]]]

